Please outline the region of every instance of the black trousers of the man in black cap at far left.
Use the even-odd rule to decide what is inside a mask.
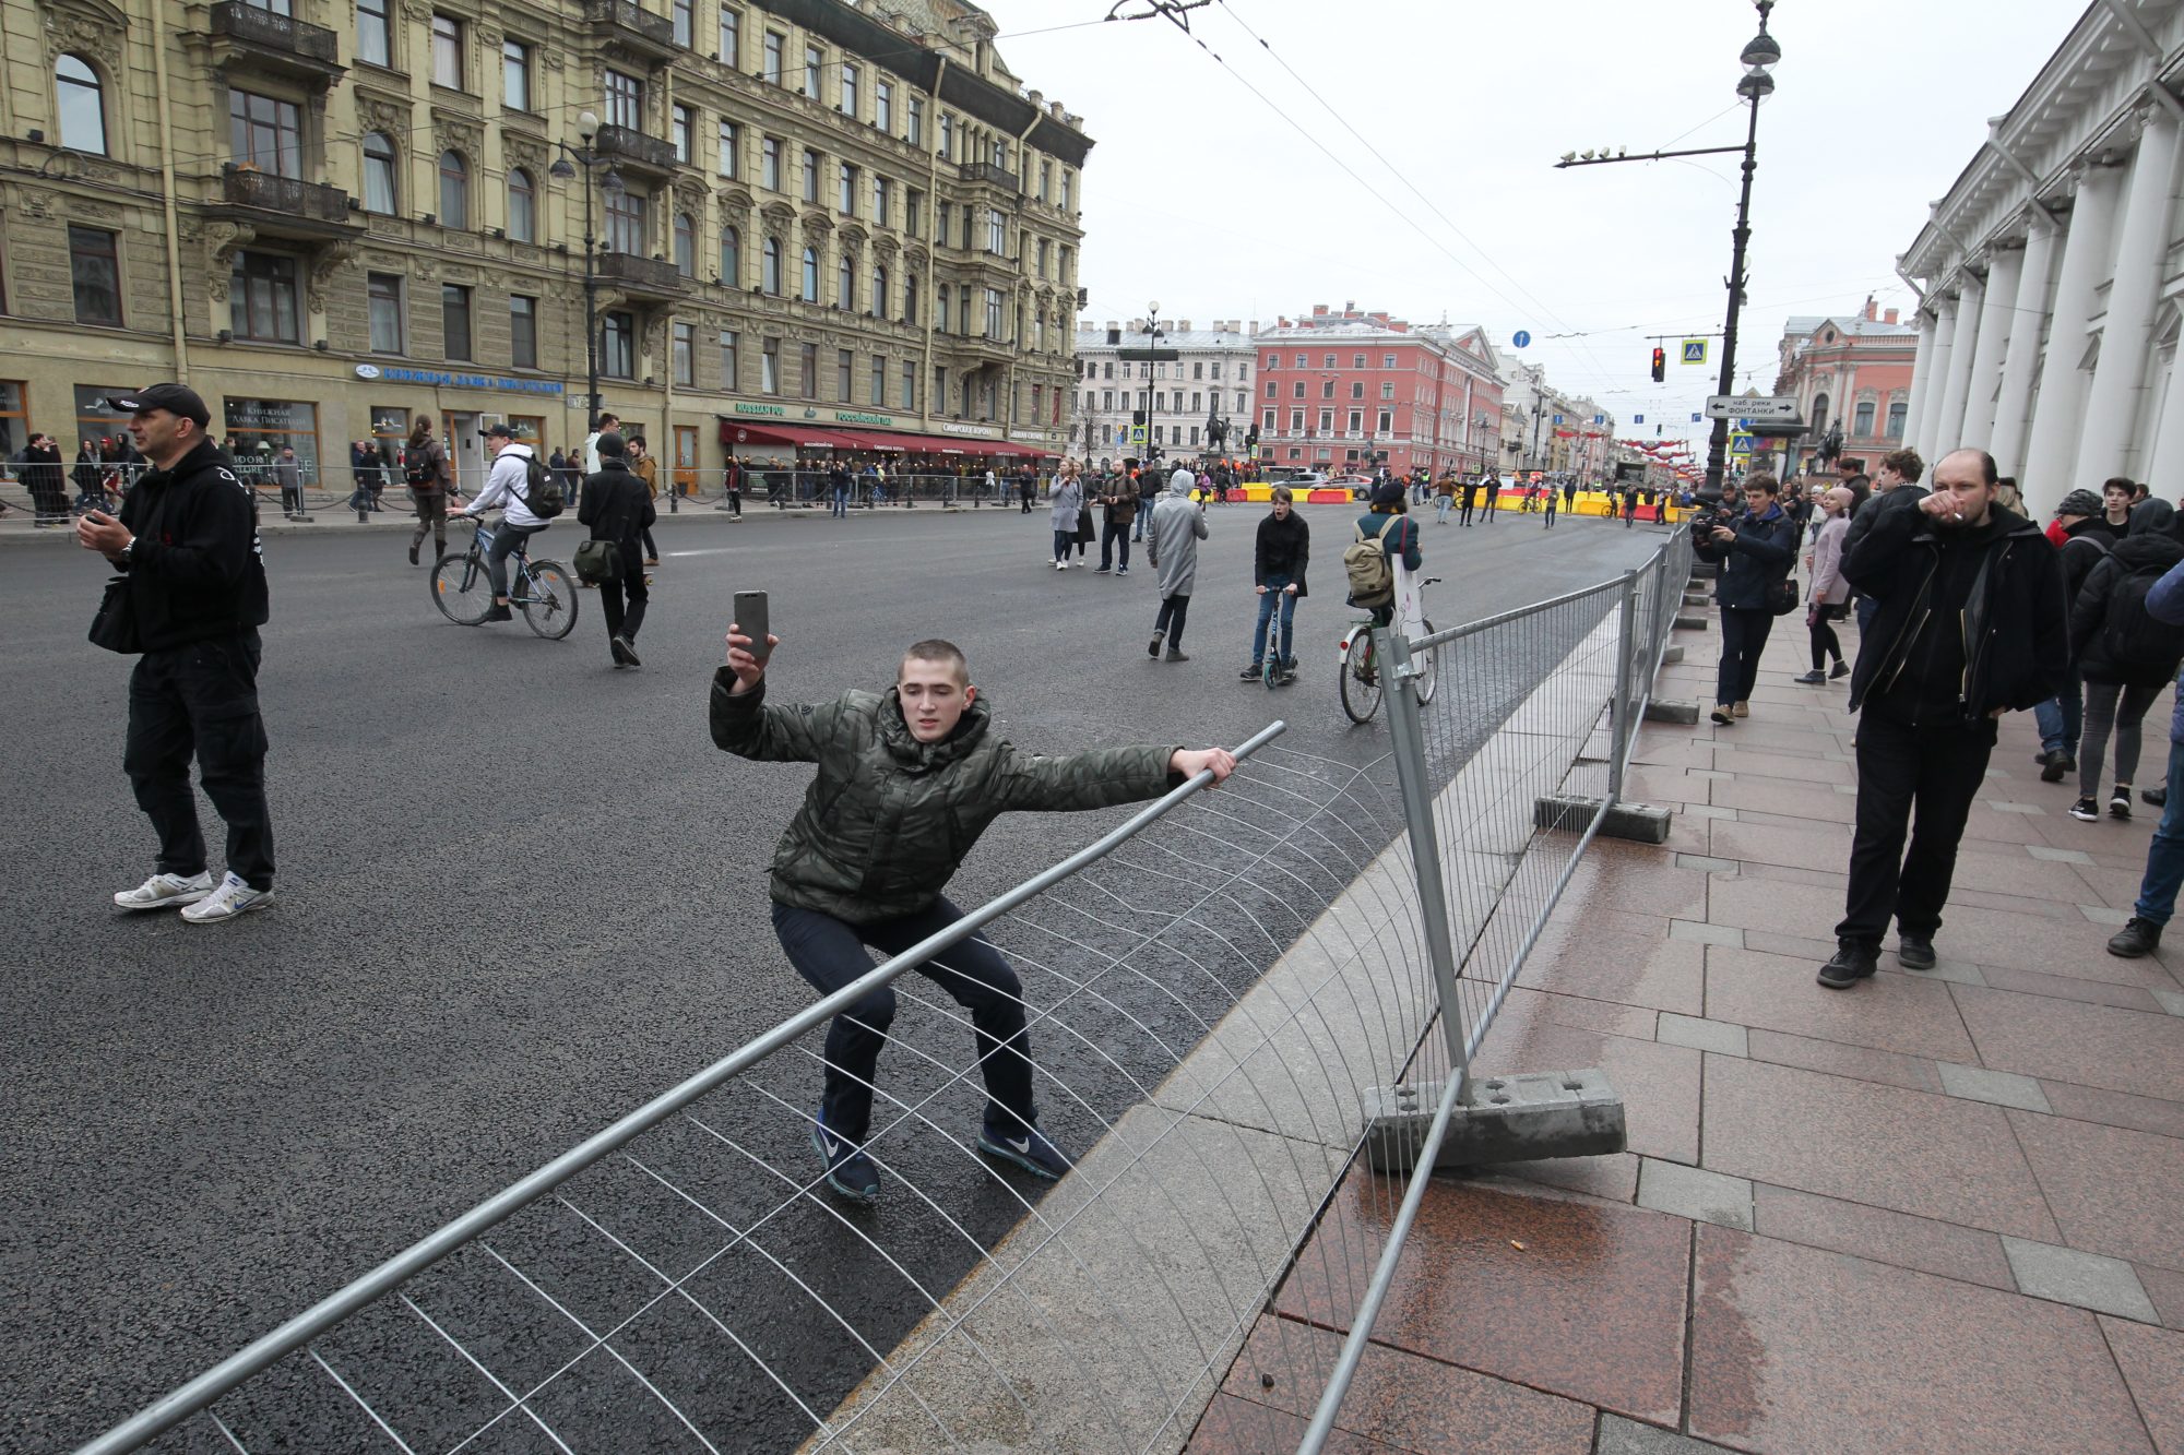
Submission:
[[[190,758],[227,821],[227,867],[251,889],[273,887],[266,808],[266,728],[258,717],[258,631],[146,651],[129,673],[122,769],[159,835],[159,874],[203,874]]]

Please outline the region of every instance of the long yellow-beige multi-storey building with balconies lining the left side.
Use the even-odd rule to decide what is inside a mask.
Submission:
[[[0,0],[0,446],[183,378],[242,454],[341,470],[437,415],[476,470],[496,417],[581,439],[590,341],[677,470],[1059,448],[1092,142],[994,33],[961,0]]]

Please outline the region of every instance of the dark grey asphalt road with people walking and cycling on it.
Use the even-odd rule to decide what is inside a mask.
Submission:
[[[1053,572],[1044,511],[666,520],[640,671],[612,669],[596,596],[563,642],[522,623],[463,629],[432,610],[404,537],[271,533],[260,693],[280,904],[221,928],[111,911],[107,896],[149,872],[151,835],[120,773],[127,662],[83,640],[103,577],[50,535],[0,542],[0,843],[17,865],[0,944],[0,1448],[74,1446],[808,1003],[764,889],[808,769],[740,762],[705,732],[738,588],[771,592],[778,701],[880,686],[902,644],[937,634],[968,651],[1000,730],[1042,752],[1236,743],[1275,714],[1291,752],[1385,752],[1385,725],[1352,728],[1334,701],[1350,511],[1306,511],[1319,551],[1297,686],[1236,682],[1258,516],[1210,513],[1188,664],[1147,660],[1153,572]],[[574,540],[557,524],[539,553],[566,559]],[[1428,610],[1441,625],[1500,612],[1655,544],[1647,529],[1564,520],[1546,533],[1507,511],[1492,529],[1428,524],[1428,575],[1446,577]],[[1002,819],[952,896],[998,894],[1118,817]],[[906,1001],[906,1020],[922,1014]],[[1064,1073],[1083,1057],[1048,1044]],[[817,1068],[797,1055],[712,1110],[771,1119],[749,1147],[808,1175],[786,1105],[815,1095]],[[957,1090],[928,1114],[970,1132],[974,1108]],[[1061,1108],[1057,1129],[1068,1143],[1096,1125]],[[1022,1215],[1013,1195],[959,1191],[954,1226],[893,1215],[889,1252],[928,1291]],[[856,1298],[854,1228],[817,1208],[778,1226],[802,1241],[804,1278]],[[778,1359],[808,1361],[797,1383],[817,1413],[871,1365],[854,1337],[793,1313],[780,1263],[710,1276],[738,1333],[767,1330]],[[898,1289],[863,1337],[889,1348],[922,1306]],[[345,1337],[369,1322],[358,1330]],[[745,1448],[793,1444],[808,1418],[756,1383],[729,1400]],[[271,1446],[349,1438],[290,1431]]]

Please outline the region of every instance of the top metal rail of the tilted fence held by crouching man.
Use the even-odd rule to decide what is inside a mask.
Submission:
[[[1273,738],[1278,738],[1282,732],[1286,732],[1286,723],[1273,721],[1267,728],[1262,728],[1256,734],[1251,734],[1245,743],[1241,743],[1234,749],[1238,762],[1249,760],[1251,754],[1256,754],[1258,749],[1262,749],[1267,743],[1271,743]],[[1085,848],[1077,850],[1075,854],[1070,854],[1061,863],[1055,863],[1053,867],[1048,867],[1048,870],[1035,874],[1033,878],[1016,885],[1007,894],[1002,894],[1002,896],[998,896],[998,898],[981,904],[978,909],[965,913],[961,920],[957,920],[954,924],[950,924],[946,931],[941,931],[937,935],[930,935],[930,937],[922,939],[919,944],[911,946],[909,950],[904,950],[902,955],[895,955],[895,957],[887,959],[885,963],[876,966],[869,974],[852,981],[843,990],[826,996],[823,1001],[817,1001],[817,1003],[808,1005],[806,1009],[797,1012],[795,1016],[788,1016],[786,1020],[782,1020],[780,1025],[775,1025],[764,1036],[758,1036],[758,1038],[745,1042],[743,1046],[738,1046],[736,1051],[727,1053],[725,1057],[721,1057],[719,1062],[714,1062],[705,1070],[701,1070],[701,1073],[692,1075],[690,1079],[681,1081],[673,1090],[662,1092],[660,1097],[655,1097],[653,1101],[646,1101],[644,1105],[640,1105],[638,1110],[633,1110],[627,1116],[618,1119],[616,1123],[603,1127],[601,1132],[594,1132],[592,1136],[587,1136],[579,1145],[574,1145],[568,1151],[563,1151],[561,1156],[557,1156],[553,1162],[546,1162],[544,1167],[539,1167],[531,1175],[522,1178],[520,1182],[513,1182],[511,1186],[502,1188],[494,1197],[487,1197],[485,1202],[480,1202],[478,1206],[474,1206],[470,1212],[463,1212],[461,1217],[456,1217],[454,1221],[446,1223],[443,1228],[439,1228],[430,1237],[413,1243],[411,1247],[406,1247],[404,1252],[395,1254],[387,1263],[378,1265],[376,1269],[371,1269],[363,1278],[349,1282],[347,1287],[343,1287],[341,1291],[332,1293],[330,1298],[323,1298],[321,1302],[312,1304],[310,1309],[306,1309],[304,1313],[295,1315],[286,1324],[273,1328],[264,1337],[253,1339],[249,1346],[245,1346],[242,1350],[229,1355],[227,1359],[223,1359],[221,1363],[212,1365],[210,1370],[205,1370],[197,1379],[190,1379],[188,1383],[179,1385],[177,1389],[168,1392],[166,1396],[153,1400],[151,1405],[146,1405],[138,1413],[129,1416],[127,1420],[122,1420],[114,1429],[109,1429],[103,1435],[98,1435],[96,1440],[83,1444],[81,1451],[79,1451],[79,1455],[118,1455],[122,1451],[142,1448],[146,1442],[151,1442],[153,1438],[157,1438],[162,1431],[179,1424],[181,1420],[190,1418],[192,1413],[197,1413],[201,1409],[207,1409],[223,1394],[236,1389],[240,1383],[245,1383],[253,1374],[260,1374],[262,1370],[266,1370],[275,1361],[284,1359],[286,1355],[293,1355],[297,1350],[308,1348],[310,1341],[317,1339],[319,1335],[332,1330],[334,1326],[339,1326],[341,1322],[345,1322],[349,1315],[358,1313],[367,1304],[376,1302],[378,1298],[382,1298],[387,1293],[393,1293],[395,1289],[400,1289],[404,1282],[408,1282],[417,1274],[430,1269],[432,1265],[437,1265],[439,1261],[443,1261],[446,1256],[450,1256],[452,1252],[456,1252],[459,1247],[463,1247],[465,1243],[470,1243],[478,1234],[487,1232],[496,1223],[509,1219],[511,1215],[520,1212],[522,1208],[526,1208],[526,1206],[535,1204],[537,1199],[546,1197],[548,1193],[553,1193],[557,1186],[561,1186],[563,1182],[568,1182],[570,1178],[574,1178],[583,1169],[592,1167],[594,1162],[598,1162],[607,1154],[616,1151],[618,1147],[622,1147],[625,1143],[629,1143],[638,1134],[642,1134],[642,1132],[660,1125],[662,1121],[666,1121],[668,1116],[673,1116],[675,1112],[679,1112],[686,1105],[690,1105],[692,1101],[701,1099],[705,1092],[723,1086],[725,1081],[729,1081],[738,1073],[749,1070],[751,1066],[756,1066],[758,1062],[767,1060],[775,1051],[780,1051],[780,1049],[788,1046],[791,1042],[795,1042],[806,1031],[812,1031],[815,1027],[826,1025],[839,1012],[856,1005],[860,998],[865,998],[874,990],[891,985],[893,981],[902,979],[913,968],[930,961],[935,955],[948,950],[954,944],[961,944],[963,939],[970,939],[985,924],[992,924],[994,920],[998,920],[1000,915],[1009,913],[1011,909],[1024,904],[1026,900],[1035,898],[1037,894],[1051,889],[1053,885],[1059,885],[1061,880],[1075,876],[1077,872],[1090,867],[1092,863],[1099,863],[1101,859],[1105,859],[1107,854],[1112,854],[1116,848],[1120,848],[1123,843],[1127,843],[1129,839],[1133,839],[1140,830],[1144,830],[1147,826],[1151,826],[1158,819],[1166,817],[1173,808],[1177,808],[1192,793],[1199,793],[1201,789],[1206,789],[1210,784],[1212,784],[1212,773],[1210,771],[1201,771],[1195,778],[1190,778],[1188,782],[1184,782],[1182,786],[1171,789],[1166,795],[1153,800],[1151,804],[1147,804],[1144,808],[1140,808],[1138,813],[1133,813],[1127,821],[1123,821],[1120,826],[1116,826],[1114,830],[1109,830],[1107,835],[1103,835],[1094,843],[1088,843]],[[328,1368],[328,1365],[321,1365],[321,1368]],[[332,1374],[330,1368],[328,1368],[328,1372]],[[339,1374],[334,1374],[334,1379],[336,1379],[336,1383],[341,1381]],[[389,1438],[393,1438],[393,1431],[387,1431],[387,1433],[389,1433]],[[395,1438],[395,1442],[400,1444],[397,1438]],[[402,1446],[402,1448],[406,1448],[406,1446]]]

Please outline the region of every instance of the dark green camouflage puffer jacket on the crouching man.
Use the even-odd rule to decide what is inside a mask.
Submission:
[[[985,697],[939,743],[919,743],[895,690],[769,708],[767,684],[712,682],[712,741],[762,762],[817,762],[773,850],[773,900],[869,924],[928,909],[998,815],[1011,808],[1112,808],[1160,797],[1182,778],[1173,747],[1024,754],[989,734]]]

